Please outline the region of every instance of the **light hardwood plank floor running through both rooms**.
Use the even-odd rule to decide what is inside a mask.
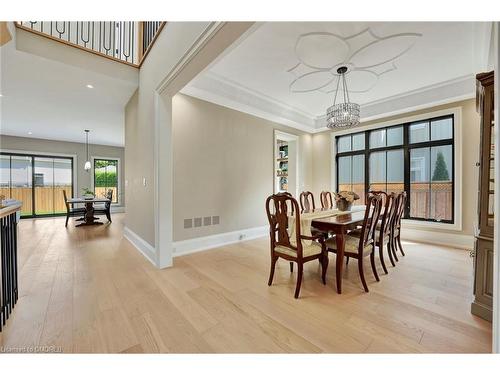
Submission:
[[[406,257],[364,293],[356,263],[335,293],[318,264],[295,274],[278,261],[267,286],[268,239],[175,258],[155,269],[111,225],[20,223],[19,302],[4,347],[63,352],[490,352],[491,325],[470,314],[468,253],[404,243]],[[382,272],[380,270],[380,274]]]

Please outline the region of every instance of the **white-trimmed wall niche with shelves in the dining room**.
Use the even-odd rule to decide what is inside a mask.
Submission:
[[[274,192],[297,194],[298,137],[276,131],[274,134]]]

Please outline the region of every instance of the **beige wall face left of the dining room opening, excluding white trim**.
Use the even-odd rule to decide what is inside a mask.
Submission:
[[[134,121],[125,121],[125,161],[129,196],[125,225],[150,246],[155,246],[155,94],[163,78],[195,43],[208,22],[169,22],[158,36],[154,46],[141,66],[137,99],[129,102]],[[136,102],[134,102],[136,100]],[[131,113],[129,113],[129,116]],[[126,113],[127,116],[127,113]],[[145,182],[145,183],[144,183]]]

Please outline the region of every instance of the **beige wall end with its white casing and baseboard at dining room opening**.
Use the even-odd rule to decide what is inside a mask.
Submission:
[[[172,264],[172,97],[252,25],[169,22],[140,69],[137,108],[126,111],[136,117],[125,130],[137,135],[126,135],[126,160],[135,159],[127,191],[140,198],[128,201],[125,235],[159,267]]]

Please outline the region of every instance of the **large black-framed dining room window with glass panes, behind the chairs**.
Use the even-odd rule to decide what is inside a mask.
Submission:
[[[404,217],[452,224],[453,115],[337,136],[337,191],[408,193]]]

